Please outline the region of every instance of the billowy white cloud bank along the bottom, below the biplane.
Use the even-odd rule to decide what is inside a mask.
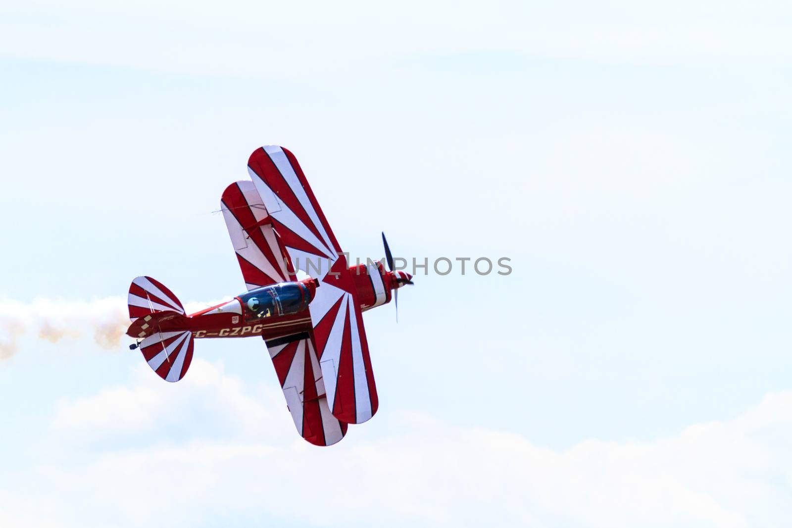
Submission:
[[[108,519],[195,526],[251,512],[317,526],[373,519],[378,526],[773,526],[792,514],[784,499],[792,483],[792,391],[770,394],[733,420],[653,442],[586,440],[551,450],[521,435],[383,410],[350,427],[337,446],[318,449],[296,436],[280,394],[257,394],[222,367],[196,360],[179,385],[141,369],[133,386],[63,402],[52,430],[58,437],[89,441],[130,427],[148,436],[77,463],[68,453],[38,453],[40,465],[18,477],[27,483],[20,489],[38,483],[37,500],[64,526]],[[185,397],[173,396],[180,392]],[[204,425],[225,424],[224,438],[199,439],[196,431],[207,429],[189,423],[181,425],[187,439],[158,434],[173,416],[195,412]],[[10,515],[13,498],[0,500]]]

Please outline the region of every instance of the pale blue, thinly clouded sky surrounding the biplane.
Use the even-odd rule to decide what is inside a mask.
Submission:
[[[790,26],[0,4],[0,526],[786,526]],[[384,231],[454,261],[365,314],[379,411],[329,448],[261,340],[197,341],[169,384],[120,337],[137,275],[196,309],[244,290],[219,197],[264,144],[353,257]]]

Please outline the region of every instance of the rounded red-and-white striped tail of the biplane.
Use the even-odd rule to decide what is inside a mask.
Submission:
[[[143,359],[166,382],[184,378],[192,362],[192,330],[181,302],[150,277],[137,277],[129,287],[127,334],[143,338]],[[134,345],[133,345],[134,346]]]

